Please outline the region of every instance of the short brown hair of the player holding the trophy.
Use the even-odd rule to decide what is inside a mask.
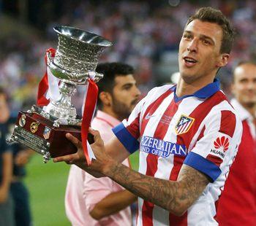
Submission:
[[[201,20],[203,22],[217,23],[222,28],[222,45],[220,47],[220,53],[230,53],[233,47],[233,41],[235,37],[235,30],[231,26],[230,21],[219,9],[211,7],[202,7],[197,10],[195,15],[192,15],[187,20],[187,25],[193,20]]]

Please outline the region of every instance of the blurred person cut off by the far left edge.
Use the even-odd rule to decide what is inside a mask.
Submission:
[[[7,97],[0,87],[0,225],[12,226],[14,224],[14,211],[10,184],[12,181],[12,151],[7,145],[6,122],[9,118]]]

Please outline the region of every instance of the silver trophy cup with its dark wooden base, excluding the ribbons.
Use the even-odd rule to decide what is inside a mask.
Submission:
[[[10,138],[10,142],[17,141],[43,155],[45,163],[50,157],[77,151],[65,137],[66,133],[72,133],[81,139],[81,120],[71,104],[71,97],[76,92],[76,85],[86,85],[91,74],[96,82],[103,77],[95,69],[103,50],[112,45],[102,36],[78,28],[57,26],[53,29],[59,36],[59,43],[54,58],[48,53],[47,65],[53,76],[61,81],[60,98],[50,100],[44,109],[34,105],[28,112],[19,112]]]

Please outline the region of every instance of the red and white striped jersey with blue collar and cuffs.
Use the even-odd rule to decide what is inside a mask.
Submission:
[[[182,217],[139,198],[138,225],[217,225],[215,202],[242,133],[218,80],[181,98],[176,85],[155,87],[113,132],[130,153],[140,149],[141,174],[176,181],[186,164],[211,179]]]

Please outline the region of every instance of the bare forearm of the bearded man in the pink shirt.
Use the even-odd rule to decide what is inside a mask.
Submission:
[[[116,214],[137,200],[137,196],[127,190],[113,192],[99,201],[89,213],[94,219],[102,219]]]

